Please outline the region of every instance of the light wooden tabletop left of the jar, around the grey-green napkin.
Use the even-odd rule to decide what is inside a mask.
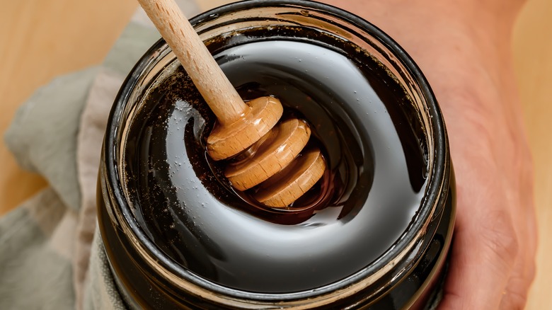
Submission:
[[[0,0],[0,133],[36,88],[100,64],[137,7],[134,0]],[[0,214],[46,183],[21,171],[0,143]]]

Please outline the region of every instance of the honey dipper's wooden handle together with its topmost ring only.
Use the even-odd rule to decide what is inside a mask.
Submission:
[[[282,103],[262,97],[244,103],[173,0],[138,0],[209,105],[217,124],[207,137],[215,161],[238,154],[263,137],[282,116]]]

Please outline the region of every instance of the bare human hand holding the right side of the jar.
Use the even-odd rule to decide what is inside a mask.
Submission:
[[[440,309],[522,309],[536,252],[531,156],[510,52],[522,2],[326,2],[397,40],[442,108],[457,214]]]

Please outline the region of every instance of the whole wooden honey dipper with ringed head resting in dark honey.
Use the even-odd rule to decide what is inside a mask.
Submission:
[[[240,163],[226,168],[232,186],[243,191],[260,184],[253,197],[269,207],[287,207],[306,193],[326,170],[320,150],[299,155],[309,125],[296,118],[279,122],[283,108],[277,98],[244,103],[173,0],[138,2],[217,116],[207,137],[209,156],[219,161],[248,149]]]

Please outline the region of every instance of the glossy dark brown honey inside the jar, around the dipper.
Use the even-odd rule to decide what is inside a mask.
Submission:
[[[125,186],[142,229],[191,272],[248,292],[298,292],[362,270],[408,229],[425,193],[426,142],[405,91],[372,57],[270,31],[280,38],[251,30],[208,46],[244,100],[275,96],[311,125],[328,171],[290,207],[301,211],[231,188],[227,163],[205,151],[214,115],[180,67],[132,119]]]

